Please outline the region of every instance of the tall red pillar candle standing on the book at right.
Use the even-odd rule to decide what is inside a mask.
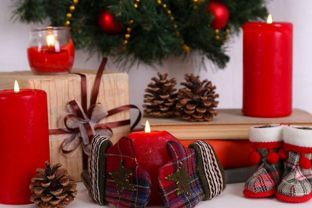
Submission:
[[[293,24],[243,25],[243,108],[254,117],[292,113]]]

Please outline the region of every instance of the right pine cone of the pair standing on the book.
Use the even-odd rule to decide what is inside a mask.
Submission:
[[[186,82],[181,82],[181,85],[186,87],[178,92],[175,114],[190,121],[212,121],[213,116],[218,115],[213,109],[219,103],[215,101],[219,97],[219,94],[214,93],[216,87],[207,79],[201,82],[199,76],[184,76]]]

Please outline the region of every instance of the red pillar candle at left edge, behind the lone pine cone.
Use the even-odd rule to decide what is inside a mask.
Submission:
[[[29,184],[50,160],[43,90],[0,91],[0,203],[30,204]]]

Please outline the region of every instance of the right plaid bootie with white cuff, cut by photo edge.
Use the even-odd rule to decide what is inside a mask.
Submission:
[[[286,202],[306,202],[312,198],[312,128],[285,127],[284,149],[289,156],[276,197]]]

